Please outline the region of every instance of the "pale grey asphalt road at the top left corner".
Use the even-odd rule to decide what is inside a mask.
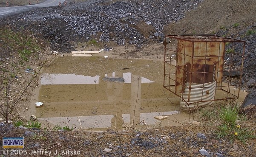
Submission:
[[[34,4],[29,6],[11,6],[11,7],[0,7],[0,19],[3,17],[8,17],[14,14],[20,14],[26,11],[31,11],[36,8],[44,8],[44,7],[50,7],[50,6],[58,6],[59,3],[62,3],[65,0],[47,0],[40,4]]]

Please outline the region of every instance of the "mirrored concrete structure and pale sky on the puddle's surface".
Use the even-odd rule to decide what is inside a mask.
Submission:
[[[102,81],[100,75],[43,74],[40,98],[45,106],[37,109],[38,120],[64,125],[68,117],[70,128],[121,129],[125,125],[139,129],[154,125],[156,115],[179,113],[170,111],[160,84],[132,73],[105,76],[124,78],[124,82]]]

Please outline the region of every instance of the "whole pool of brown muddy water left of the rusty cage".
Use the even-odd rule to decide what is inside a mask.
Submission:
[[[42,71],[27,118],[90,131],[146,129],[193,121],[163,88],[164,62],[64,56]],[[106,80],[106,77],[124,78]],[[40,108],[35,102],[43,102]],[[155,116],[168,118],[158,121]]]

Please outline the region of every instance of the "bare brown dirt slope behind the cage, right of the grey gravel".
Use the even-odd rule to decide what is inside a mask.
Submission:
[[[225,27],[231,28],[227,35],[236,34],[256,22],[256,0],[204,0],[185,16],[167,25],[167,33],[212,34]],[[235,23],[239,23],[238,28],[232,28]]]

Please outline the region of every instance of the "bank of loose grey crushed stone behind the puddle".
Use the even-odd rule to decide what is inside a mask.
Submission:
[[[130,0],[106,5],[106,0],[89,0],[63,8],[39,9],[24,13],[19,18],[40,22],[63,20],[66,22],[66,33],[83,36],[87,40],[97,36],[98,42],[112,40],[118,45],[135,44],[141,47],[150,39],[162,42],[164,25],[182,19],[185,11],[195,9],[201,1]],[[149,38],[136,29],[141,21],[154,28]]]

